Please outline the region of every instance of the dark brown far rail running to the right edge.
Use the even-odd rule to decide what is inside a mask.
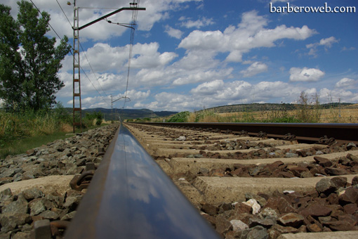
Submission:
[[[293,134],[301,141],[319,141],[327,136],[343,143],[358,143],[358,124],[291,124],[291,123],[165,123],[140,122],[138,124],[152,124],[159,126],[194,127],[196,129],[220,129],[225,131],[248,131],[249,135],[256,136],[260,131],[268,137],[284,138],[286,134]]]

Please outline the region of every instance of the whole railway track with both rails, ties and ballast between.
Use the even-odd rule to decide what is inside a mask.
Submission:
[[[121,126],[67,238],[357,238],[358,125],[284,125]]]

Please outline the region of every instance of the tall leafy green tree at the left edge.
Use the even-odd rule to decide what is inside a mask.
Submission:
[[[48,13],[24,0],[18,6],[14,20],[11,8],[0,4],[0,98],[8,109],[46,110],[65,86],[57,73],[71,46],[66,36],[57,47],[55,37],[46,37]]]

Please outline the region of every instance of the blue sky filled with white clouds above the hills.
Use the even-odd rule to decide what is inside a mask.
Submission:
[[[73,0],[72,6],[32,1],[72,44]],[[79,25],[130,1],[77,0]],[[16,15],[14,0],[1,3]],[[347,13],[347,6],[356,13]],[[131,101],[116,101],[114,108],[194,111],[293,103],[302,91],[317,93],[321,103],[358,103],[358,1],[141,0],[139,7],[146,11],[138,11],[129,77],[128,27],[102,20],[80,31],[82,108],[110,108],[111,95],[113,101],[126,95]],[[346,12],[312,13],[311,7]],[[131,18],[131,11],[122,11],[107,20]],[[69,54],[59,72],[65,87],[57,100],[65,107],[72,107],[72,60]]]

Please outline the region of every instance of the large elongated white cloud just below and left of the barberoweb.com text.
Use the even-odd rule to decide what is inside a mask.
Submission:
[[[251,49],[273,47],[279,39],[303,40],[316,32],[306,25],[303,27],[286,27],[280,25],[274,29],[265,28],[267,18],[250,11],[242,15],[237,27],[230,26],[224,32],[195,30],[183,39],[179,48],[187,51],[213,51],[214,55],[228,52],[227,61],[240,62],[242,55]]]

